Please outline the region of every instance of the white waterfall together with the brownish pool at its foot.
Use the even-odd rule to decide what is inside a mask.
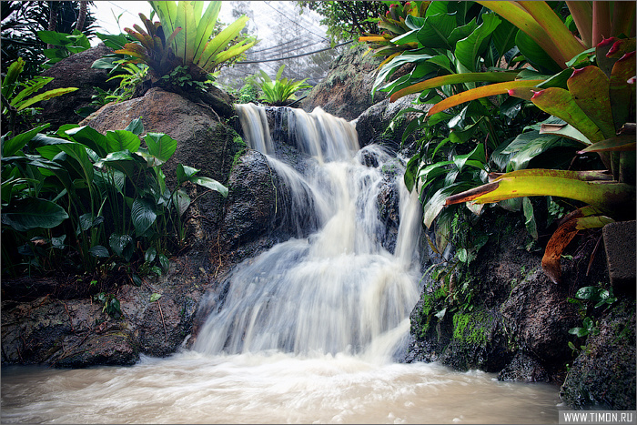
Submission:
[[[191,350],[130,368],[3,368],[3,423],[557,421],[550,385],[397,362],[420,293],[420,204],[395,173],[390,252],[377,202],[383,167],[396,167],[388,152],[359,149],[343,119],[287,108],[288,138],[309,158],[299,173],[276,157],[262,107],[238,113],[249,147],[290,188],[291,218],[311,208],[319,230],[298,224],[297,237],[235,268],[222,303],[202,300],[216,304]]]

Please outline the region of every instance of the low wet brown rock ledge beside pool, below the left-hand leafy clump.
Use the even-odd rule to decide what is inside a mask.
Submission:
[[[5,300],[2,363],[85,368],[134,364],[139,354],[170,355],[192,331],[197,303],[213,280],[207,268],[207,258],[185,256],[155,281],[118,288],[117,319],[91,299]],[[153,294],[161,297],[151,301]]]

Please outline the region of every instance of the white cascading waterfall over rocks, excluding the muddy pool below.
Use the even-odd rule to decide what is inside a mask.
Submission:
[[[268,158],[294,194],[290,214],[300,215],[311,202],[319,230],[239,264],[227,277],[222,307],[213,309],[193,349],[387,358],[409,332],[420,293],[418,197],[407,192],[402,172],[391,177],[401,188],[399,237],[390,253],[379,238],[385,224],[378,197],[388,184],[383,167],[396,167],[395,158],[376,145],[359,149],[355,127],[320,108],[311,114],[281,109],[288,141],[308,157],[303,174],[275,157],[265,108],[237,106],[248,146]],[[364,157],[373,157],[372,164]]]

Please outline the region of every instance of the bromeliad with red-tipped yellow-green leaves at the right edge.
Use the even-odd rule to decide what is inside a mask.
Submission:
[[[542,267],[554,282],[561,277],[561,252],[579,230],[599,228],[613,219],[634,218],[635,53],[633,50],[619,58],[616,54],[634,46],[634,39],[602,41],[596,50],[601,67],[576,69],[567,80],[568,90],[551,87],[535,92],[530,98],[533,105],[564,121],[558,126],[543,126],[541,133],[568,135],[579,141],[580,153],[599,153],[610,174],[548,169],[512,171],[447,199],[447,205],[451,205],[548,195],[587,204],[589,207],[578,208],[561,223],[547,245]],[[522,98],[529,96],[526,91],[510,93]]]

